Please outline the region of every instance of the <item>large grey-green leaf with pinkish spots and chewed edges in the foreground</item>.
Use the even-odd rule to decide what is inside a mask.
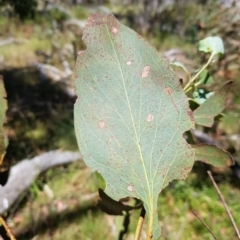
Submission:
[[[80,151],[110,197],[143,201],[147,239],[159,239],[158,195],[185,179],[195,158],[183,138],[195,125],[188,99],[169,63],[113,15],[91,15],[83,40],[74,106]]]

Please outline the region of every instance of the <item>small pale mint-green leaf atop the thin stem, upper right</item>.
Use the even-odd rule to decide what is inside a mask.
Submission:
[[[199,51],[222,55],[224,53],[223,41],[220,37],[207,37],[199,41]]]

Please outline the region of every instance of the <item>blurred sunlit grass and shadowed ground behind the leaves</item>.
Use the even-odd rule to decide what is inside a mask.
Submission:
[[[234,80],[234,86],[222,120],[199,130],[240,163],[239,0],[0,0],[0,74],[9,106],[9,147],[3,167],[52,149],[78,149],[72,83],[91,13],[113,13],[191,73],[207,59],[198,53],[197,42],[207,36],[223,39],[226,52],[211,66],[215,81],[211,89],[228,80]],[[181,70],[175,71],[186,79]],[[240,227],[239,167],[212,170]],[[53,195],[47,194],[46,186]],[[124,216],[109,216],[96,207],[99,187],[104,188],[101,176],[81,161],[54,168],[39,176],[5,216],[19,240],[119,239]],[[206,170],[198,163],[186,181],[173,182],[160,195],[162,239],[213,239],[192,210],[218,239],[236,239]],[[124,239],[133,239],[138,214],[131,213]]]

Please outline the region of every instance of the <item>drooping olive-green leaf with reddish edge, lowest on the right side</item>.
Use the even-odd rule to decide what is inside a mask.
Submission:
[[[195,150],[195,161],[202,161],[215,167],[226,167],[234,165],[233,158],[227,151],[208,144],[193,144]]]

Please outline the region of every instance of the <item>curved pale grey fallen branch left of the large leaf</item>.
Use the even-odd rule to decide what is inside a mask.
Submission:
[[[8,182],[0,186],[0,214],[8,210],[34,181],[37,175],[62,164],[81,160],[79,152],[50,151],[32,159],[22,160],[10,170]]]

